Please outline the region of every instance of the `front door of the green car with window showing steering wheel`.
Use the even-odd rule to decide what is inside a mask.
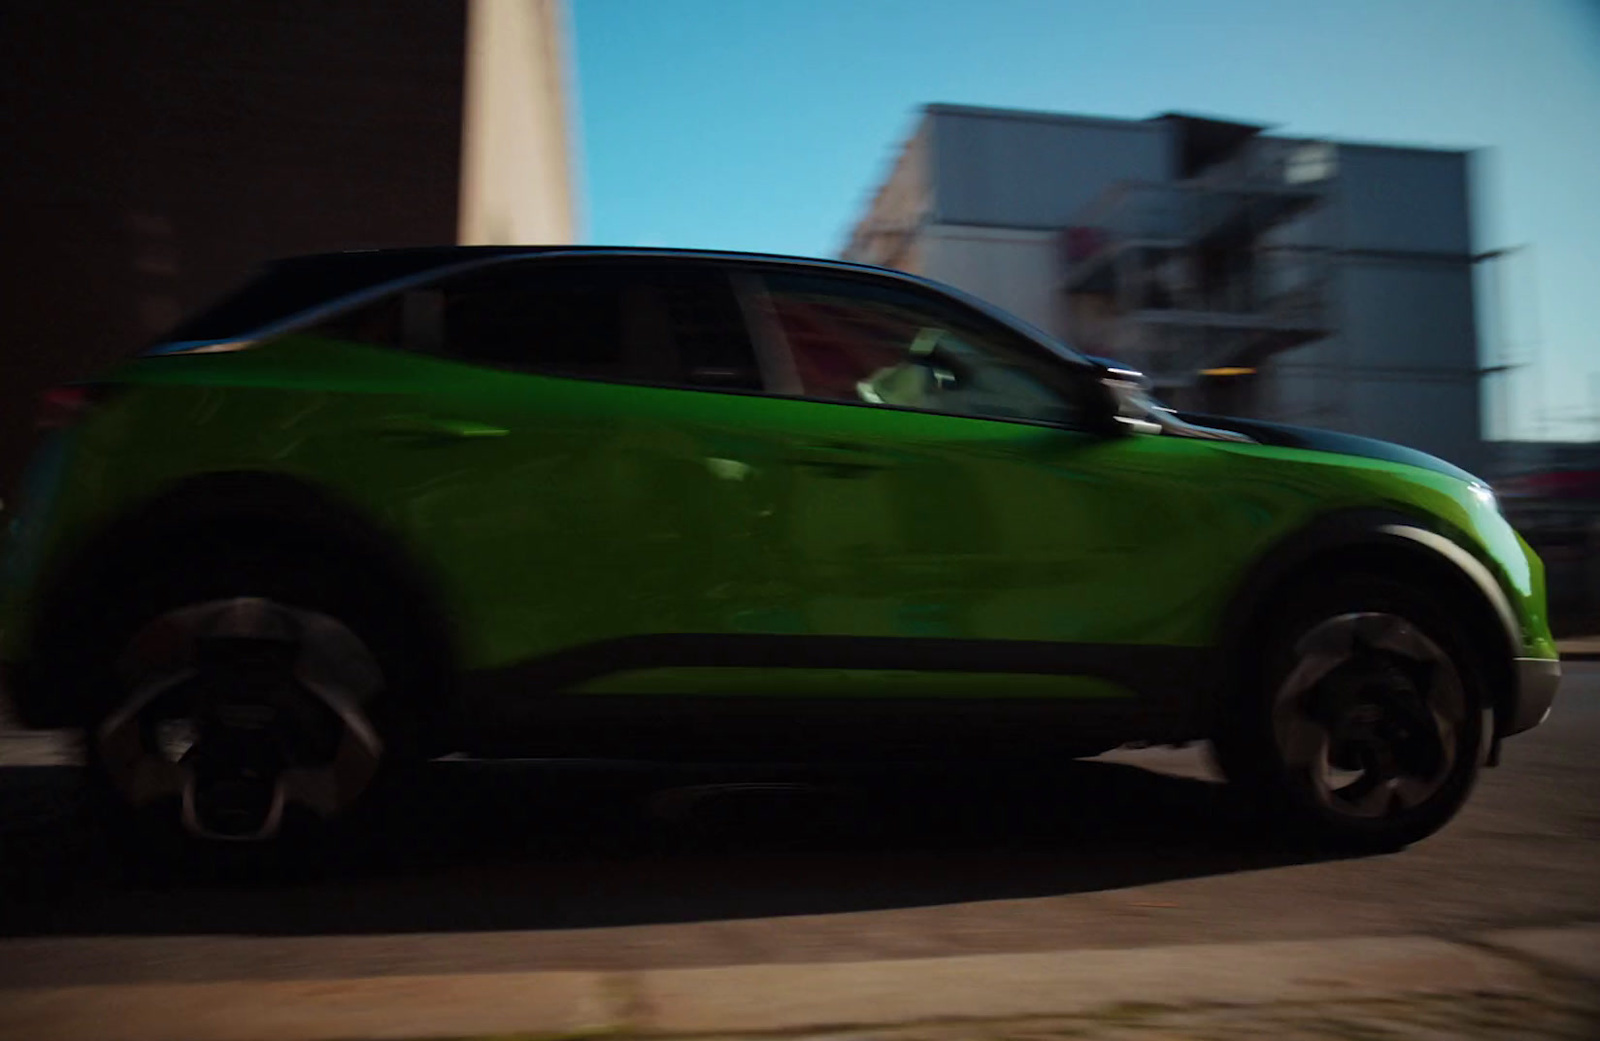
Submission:
[[[778,556],[813,664],[864,691],[1101,697],[1128,692],[1107,644],[1150,662],[1138,644],[1187,638],[1155,579],[1194,550],[1202,489],[1181,449],[1104,432],[1091,369],[915,283],[774,269],[746,293],[786,358]]]

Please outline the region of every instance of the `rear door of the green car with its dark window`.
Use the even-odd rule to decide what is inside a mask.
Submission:
[[[760,374],[720,269],[502,262],[387,312],[411,366],[378,432],[390,509],[450,587],[469,668],[581,688],[760,600],[754,453],[718,405]]]

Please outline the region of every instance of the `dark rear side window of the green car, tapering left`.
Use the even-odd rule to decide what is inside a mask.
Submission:
[[[762,389],[738,299],[710,265],[496,264],[395,293],[314,333],[550,376]]]

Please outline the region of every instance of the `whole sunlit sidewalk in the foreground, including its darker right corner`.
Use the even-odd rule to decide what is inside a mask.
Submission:
[[[3,951],[3,945],[0,945]],[[0,990],[0,1038],[1600,1036],[1600,924],[637,972]]]

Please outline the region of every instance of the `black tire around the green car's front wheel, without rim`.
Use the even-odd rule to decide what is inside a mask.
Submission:
[[[1443,652],[1459,681],[1459,723],[1435,736],[1443,758],[1434,761],[1437,774],[1429,785],[1437,787],[1410,806],[1395,800],[1376,817],[1352,816],[1350,806],[1338,795],[1330,796],[1328,784],[1312,776],[1317,771],[1291,761],[1296,756],[1286,755],[1285,745],[1293,742],[1274,721],[1275,705],[1293,689],[1302,638],[1312,632],[1326,633],[1339,619],[1352,616],[1403,620]],[[1378,576],[1325,576],[1320,582],[1299,585],[1275,604],[1261,627],[1261,640],[1246,656],[1234,673],[1235,696],[1224,700],[1211,739],[1213,760],[1272,824],[1322,848],[1389,851],[1427,838],[1461,809],[1486,760],[1493,736],[1491,700],[1482,656],[1438,598]],[[1298,675],[1315,675],[1315,668]],[[1454,713],[1458,702],[1448,700]],[[1418,790],[1422,787],[1418,784]]]

